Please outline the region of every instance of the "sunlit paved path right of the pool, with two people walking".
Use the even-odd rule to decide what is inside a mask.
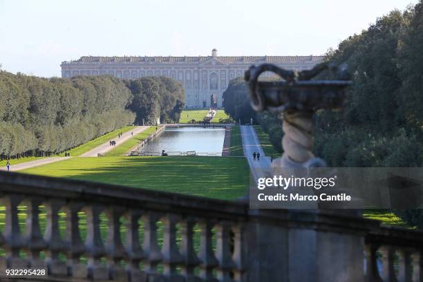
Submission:
[[[242,125],[241,136],[243,138],[244,156],[250,164],[250,169],[255,179],[265,177],[267,174],[265,169],[270,169],[270,157],[265,156],[263,149],[261,148],[260,140],[254,131],[253,126]],[[260,153],[260,160],[254,160],[253,153]]]

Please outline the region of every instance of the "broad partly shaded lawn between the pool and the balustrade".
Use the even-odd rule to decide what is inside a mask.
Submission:
[[[71,158],[21,172],[227,200],[243,196],[249,182],[245,158]]]

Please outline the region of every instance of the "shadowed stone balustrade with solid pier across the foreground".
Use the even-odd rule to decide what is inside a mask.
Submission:
[[[422,232],[380,227],[351,212],[254,210],[245,203],[6,172],[0,173],[0,193],[6,207],[0,281],[8,281],[6,268],[20,267],[46,267],[48,276],[33,281],[421,279]]]

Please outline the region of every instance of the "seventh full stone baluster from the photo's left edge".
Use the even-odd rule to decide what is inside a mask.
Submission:
[[[140,261],[145,258],[144,252],[140,245],[140,236],[138,235],[138,229],[140,224],[138,220],[142,215],[141,211],[130,210],[126,212],[126,241],[125,249],[126,254],[129,257],[128,273],[130,281],[144,281],[147,279],[145,272],[140,270]]]

